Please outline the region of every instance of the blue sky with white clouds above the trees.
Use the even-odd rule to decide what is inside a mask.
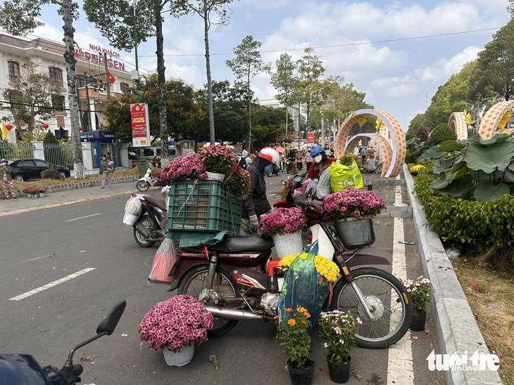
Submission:
[[[262,43],[261,58],[272,71],[282,53],[298,60],[311,47],[325,66],[325,76],[344,77],[345,83],[365,93],[366,103],[390,112],[407,131],[410,121],[430,105],[437,88],[477,58],[506,25],[508,5],[508,0],[234,1],[230,25],[220,30],[213,25],[209,32],[211,75],[215,81],[234,81],[225,60],[234,58],[234,48],[247,35]],[[62,20],[56,12],[56,6],[44,6],[41,20],[46,25],[29,37],[61,41]],[[84,13],[75,30],[79,46],[111,48]],[[207,82],[203,19],[166,16],[163,32],[166,78],[203,87]],[[142,74],[156,70],[155,52],[155,38],[139,44]],[[125,69],[132,70],[134,52],[120,54]],[[253,77],[251,87],[256,98],[267,103],[277,93],[268,74]]]

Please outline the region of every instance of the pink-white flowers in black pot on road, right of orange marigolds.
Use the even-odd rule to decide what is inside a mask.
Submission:
[[[360,318],[353,318],[350,312],[322,312],[318,321],[321,330],[320,337],[325,339],[323,344],[328,349],[327,362],[330,379],[337,384],[344,384],[350,379],[351,348],[355,343],[355,334]]]

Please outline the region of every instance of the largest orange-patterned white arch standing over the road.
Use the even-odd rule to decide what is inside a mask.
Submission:
[[[384,148],[381,154],[382,161],[384,162],[382,176],[397,176],[400,174],[403,162],[405,162],[405,134],[403,133],[398,120],[396,120],[396,118],[387,111],[363,109],[354,111],[349,117],[346,117],[337,131],[336,140],[334,142],[335,157],[339,158],[346,153],[346,143],[348,143],[348,135],[351,128],[356,124],[359,117],[365,117],[366,115],[375,115],[382,119],[382,122],[386,125],[387,131],[389,131],[389,134],[391,135],[392,147],[389,146],[389,148]],[[384,138],[384,136],[382,136],[382,138]],[[351,151],[351,149],[349,151]],[[386,162],[389,164],[389,167],[387,168],[385,167]]]

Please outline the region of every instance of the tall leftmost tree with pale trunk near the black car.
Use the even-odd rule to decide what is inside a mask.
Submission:
[[[4,0],[0,5],[0,20],[4,29],[15,36],[26,36],[36,27],[44,25],[39,20],[42,6],[56,4],[58,14],[63,19],[64,61],[68,83],[68,103],[70,105],[71,141],[73,143],[73,171],[75,178],[85,178],[80,143],[80,119],[75,67],[75,28],[73,20],[78,18],[78,5],[71,0]]]

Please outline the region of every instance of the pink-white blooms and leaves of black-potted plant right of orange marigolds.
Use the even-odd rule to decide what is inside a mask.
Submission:
[[[355,342],[361,318],[353,318],[350,312],[322,312],[318,321],[321,327],[320,337],[327,340],[323,346],[328,349],[328,360],[331,363],[346,363],[350,357],[351,347]]]

